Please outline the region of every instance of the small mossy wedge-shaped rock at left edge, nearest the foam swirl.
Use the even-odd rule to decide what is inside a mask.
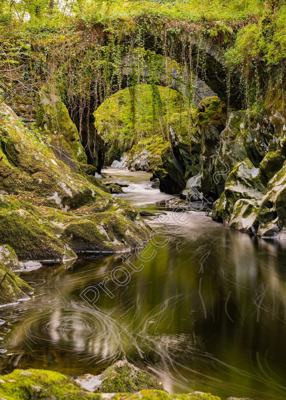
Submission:
[[[0,306],[17,304],[21,300],[28,300],[33,293],[34,289],[0,262]]]

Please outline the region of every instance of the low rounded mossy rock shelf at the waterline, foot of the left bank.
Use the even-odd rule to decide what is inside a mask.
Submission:
[[[45,261],[74,259],[83,251],[124,251],[148,240],[151,228],[130,204],[105,193],[97,200],[65,212],[0,195],[0,243],[14,248],[21,261]]]

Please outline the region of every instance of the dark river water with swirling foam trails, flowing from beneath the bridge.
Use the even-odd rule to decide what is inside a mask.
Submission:
[[[153,204],[172,196],[152,189],[149,174],[104,173],[112,176],[105,182],[129,180],[119,196],[139,210],[169,216],[169,228],[178,227],[171,208]],[[156,217],[144,218],[158,225]],[[170,241],[131,273],[127,285],[108,281],[114,297],[101,290],[98,313],[79,295],[123,266],[120,254],[80,254],[75,262],[21,272],[36,293],[0,311],[2,373],[32,367],[99,374],[126,358],[171,393],[285,399],[286,241],[231,231],[204,212],[193,212],[179,227],[176,235],[155,236]]]

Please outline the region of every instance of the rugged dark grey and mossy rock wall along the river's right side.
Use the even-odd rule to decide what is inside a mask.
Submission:
[[[207,216],[227,222],[230,229],[285,238],[283,88],[285,76],[270,80],[264,108],[256,114],[227,109],[218,97],[206,97],[196,109],[172,114],[169,142],[141,140],[113,166],[153,172],[162,192],[203,201]]]

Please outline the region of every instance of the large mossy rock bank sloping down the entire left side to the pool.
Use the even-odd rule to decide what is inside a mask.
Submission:
[[[24,128],[11,108],[0,103],[0,109],[0,246],[19,261],[47,261],[85,251],[122,252],[149,239],[151,229],[139,212],[84,172],[86,157],[76,157],[75,149],[61,156]],[[45,115],[44,129],[50,124],[51,130],[54,118],[58,122],[54,141],[63,136],[66,143],[79,142],[66,109],[50,106]]]

